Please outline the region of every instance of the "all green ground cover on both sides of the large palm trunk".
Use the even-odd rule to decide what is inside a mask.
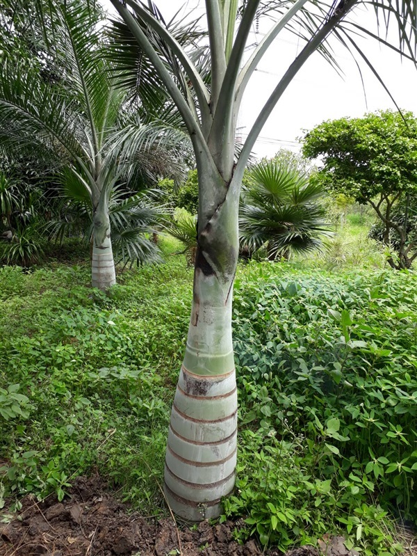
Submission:
[[[164,511],[192,289],[176,249],[109,296],[83,262],[0,269],[0,498],[61,498],[98,471],[143,514]],[[240,536],[284,550],[342,530],[382,556],[398,551],[388,516],[416,519],[417,276],[373,256],[238,269],[240,450],[224,516],[245,516]]]

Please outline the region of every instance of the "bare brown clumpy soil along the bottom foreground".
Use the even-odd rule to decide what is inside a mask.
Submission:
[[[0,556],[279,556],[263,553],[254,540],[238,545],[233,531],[238,523],[195,530],[178,529],[172,519],[145,520],[128,514],[126,506],[106,491],[99,477],[78,477],[70,496],[58,502],[26,497],[10,523],[0,523]],[[7,512],[3,512],[3,516]],[[4,521],[4,520],[3,520]],[[327,556],[348,556],[341,537],[322,543]],[[286,556],[318,556],[311,546],[290,550]],[[281,555],[282,556],[282,555]]]

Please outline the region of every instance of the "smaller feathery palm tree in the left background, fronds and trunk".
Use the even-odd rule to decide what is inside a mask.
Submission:
[[[88,197],[92,207],[92,285],[105,290],[115,283],[112,190],[116,184],[138,177],[146,157],[163,160],[165,170],[172,168],[161,153],[167,143],[183,145],[184,135],[181,129],[163,127],[161,119],[138,120],[136,113],[131,116],[126,110],[126,92],[115,86],[111,61],[105,56],[97,6],[76,0],[49,5],[54,40],[48,46],[48,63],[59,68],[60,80],[45,81],[38,67],[28,69],[27,63],[19,67],[13,58],[6,59],[0,78],[0,135],[10,150],[28,148],[40,157],[59,161],[67,189],[81,190]],[[143,86],[147,101],[161,109],[165,95],[156,81],[147,77]],[[171,163],[175,154],[169,157]],[[134,190],[134,185],[130,189]],[[133,201],[129,206],[133,207]],[[125,247],[123,258],[136,251],[136,258],[146,260],[149,255],[155,259],[155,248],[149,248],[142,237],[147,230],[143,223],[142,219],[129,237],[126,230],[119,230],[119,243]]]

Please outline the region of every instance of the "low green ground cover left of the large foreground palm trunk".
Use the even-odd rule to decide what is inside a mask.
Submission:
[[[89,287],[88,264],[0,271],[0,386],[30,399],[29,419],[3,423],[3,483],[17,493],[44,495],[97,468],[146,511],[154,498],[163,507],[140,460],[160,474],[191,271],[167,255],[120,278],[107,297]]]

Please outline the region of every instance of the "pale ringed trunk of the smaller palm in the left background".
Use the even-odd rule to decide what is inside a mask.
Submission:
[[[116,283],[115,262],[111,248],[108,205],[100,201],[93,215],[92,287],[106,291]]]

